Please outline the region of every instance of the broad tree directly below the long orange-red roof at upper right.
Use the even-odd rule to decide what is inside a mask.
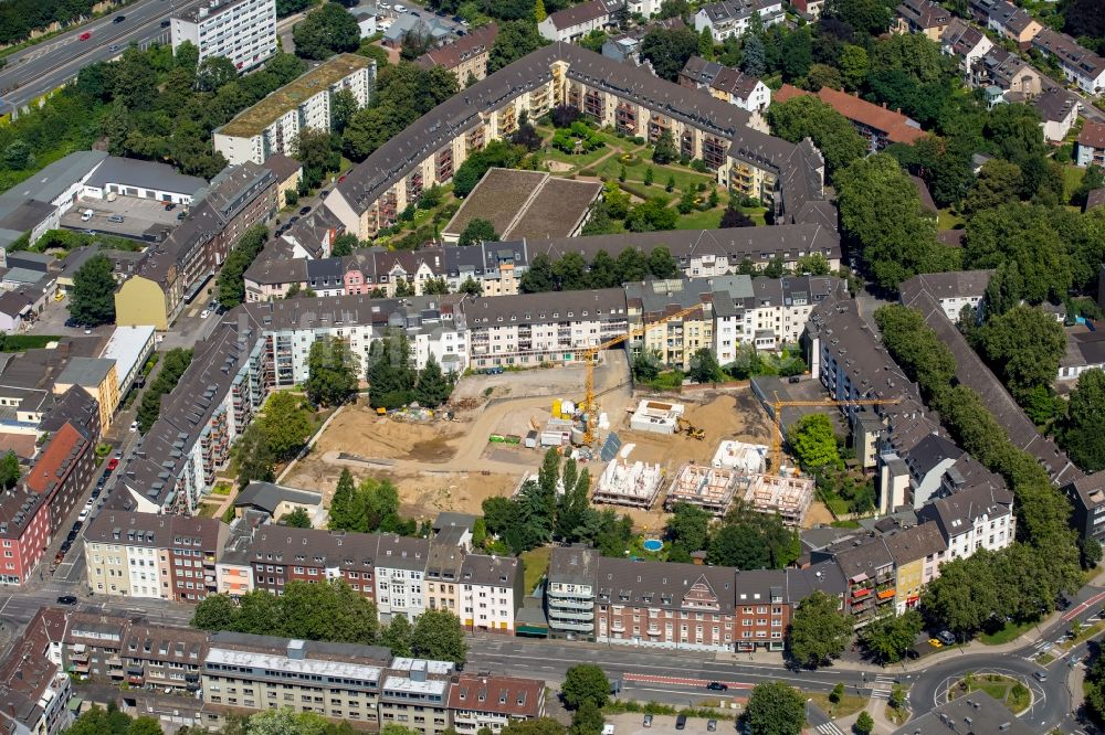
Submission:
[[[771,105],[767,119],[771,132],[785,140],[797,143],[811,138],[824,156],[830,178],[867,152],[867,141],[848,118],[813,95]]]

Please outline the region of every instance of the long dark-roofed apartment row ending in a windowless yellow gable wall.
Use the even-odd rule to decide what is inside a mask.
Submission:
[[[115,292],[119,326],[166,330],[251,226],[276,214],[276,175],[246,161],[227,167],[164,243],[147,248]]]

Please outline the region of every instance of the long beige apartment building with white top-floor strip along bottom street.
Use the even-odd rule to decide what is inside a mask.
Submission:
[[[285,640],[283,651],[273,651],[264,642],[214,636],[203,659],[203,702],[230,711],[291,707],[379,726],[383,668],[364,661],[379,661],[380,649],[346,643],[333,647],[341,649],[334,656],[325,645]]]

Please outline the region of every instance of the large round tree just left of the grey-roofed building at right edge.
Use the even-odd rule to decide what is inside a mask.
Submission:
[[[1018,306],[991,317],[978,330],[980,351],[1014,397],[1050,386],[1066,352],[1063,326],[1043,309]]]

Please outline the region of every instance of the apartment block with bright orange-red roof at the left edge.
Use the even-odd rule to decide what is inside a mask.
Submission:
[[[92,481],[94,454],[92,438],[73,423],[66,422],[50,436],[23,478],[28,492],[40,496],[50,507],[46,526],[49,536],[62,531]],[[28,519],[27,522],[33,525],[42,521],[32,522]]]

